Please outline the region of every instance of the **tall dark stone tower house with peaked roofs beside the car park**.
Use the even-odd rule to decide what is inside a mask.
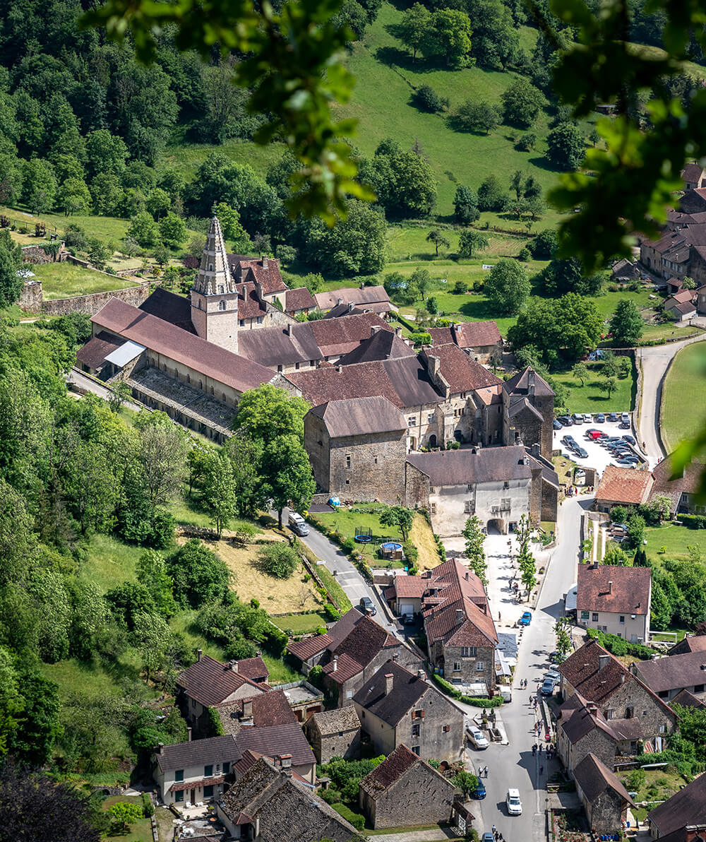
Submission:
[[[554,392],[530,366],[505,381],[503,441],[506,445],[539,445],[539,455],[551,461],[554,436]]]

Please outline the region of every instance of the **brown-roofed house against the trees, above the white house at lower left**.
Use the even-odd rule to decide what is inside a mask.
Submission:
[[[252,669],[251,662],[255,662]],[[261,664],[262,658],[220,663],[199,649],[198,660],[184,669],[177,679],[176,701],[188,725],[194,727],[196,733],[210,733],[210,707],[252,699],[269,690],[264,682],[247,676],[248,672],[253,672],[260,678],[264,666]]]

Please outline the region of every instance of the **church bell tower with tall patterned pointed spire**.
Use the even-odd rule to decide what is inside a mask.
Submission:
[[[211,220],[191,290],[191,323],[202,339],[237,354],[238,293],[217,216]]]

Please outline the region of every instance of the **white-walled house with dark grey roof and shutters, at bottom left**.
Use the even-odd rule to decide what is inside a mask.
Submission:
[[[152,774],[164,804],[182,807],[218,799],[231,780],[241,752],[231,734],[160,745],[152,755]]]

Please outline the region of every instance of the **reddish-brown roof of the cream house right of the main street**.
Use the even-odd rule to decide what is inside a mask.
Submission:
[[[645,615],[650,610],[650,568],[579,564],[576,608]]]

